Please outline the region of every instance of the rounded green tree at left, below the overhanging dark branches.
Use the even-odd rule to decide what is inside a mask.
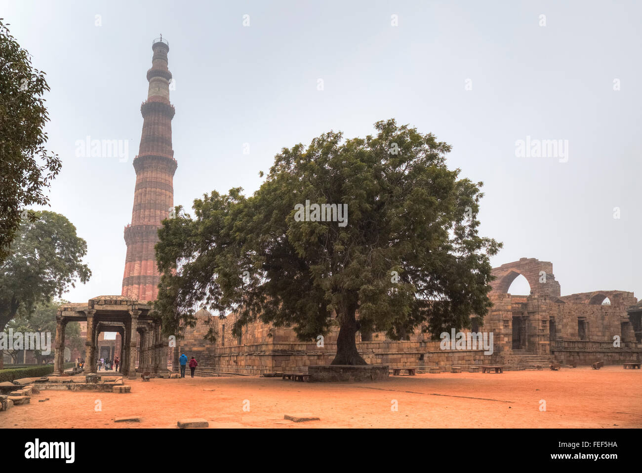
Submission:
[[[83,284],[91,271],[83,264],[87,243],[64,216],[32,212],[22,220],[9,256],[0,263],[0,330],[18,310],[31,316],[36,304],[61,297],[76,280]]]

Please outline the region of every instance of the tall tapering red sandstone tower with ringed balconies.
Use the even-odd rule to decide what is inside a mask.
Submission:
[[[141,105],[143,134],[134,159],[136,187],[132,223],[125,227],[127,256],[123,275],[123,296],[138,300],[155,300],[160,273],[154,245],[158,241],[160,222],[168,217],[174,205],[173,176],[177,168],[171,149],[171,119],[174,107],[169,103],[167,40],[152,44],[152,69],[147,71],[150,89]]]

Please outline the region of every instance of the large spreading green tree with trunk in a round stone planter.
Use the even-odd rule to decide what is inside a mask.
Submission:
[[[258,317],[314,340],[336,314],[333,364],[363,365],[358,330],[398,340],[416,327],[438,334],[483,318],[489,256],[501,244],[478,235],[482,183],[448,169],[451,147],[431,133],[392,119],[375,127],[365,139],[329,132],[284,148],[248,198],[212,192],[195,200],[195,219],[177,207],[156,246],[164,273],[156,308],[167,329],[193,325],[205,304],[236,310],[237,335]],[[309,219],[300,212],[306,201],[345,204],[347,215],[313,221],[313,207]]]

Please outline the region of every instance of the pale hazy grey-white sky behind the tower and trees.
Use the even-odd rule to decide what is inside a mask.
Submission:
[[[252,193],[283,146],[394,117],[452,144],[449,166],[485,183],[482,234],[504,243],[494,266],[551,261],[562,295],[642,291],[642,3],[20,0],[0,1],[0,17],[51,87],[51,210],[87,240],[93,271],[68,300],[121,293],[159,33],[176,81],[175,204]],[[87,136],[128,141],[128,159],[76,157]],[[527,137],[568,148],[520,156]]]

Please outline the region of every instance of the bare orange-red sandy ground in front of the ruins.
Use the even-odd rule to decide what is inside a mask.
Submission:
[[[43,390],[0,413],[0,427],[642,427],[642,370],[622,366],[504,374],[422,374],[380,383],[299,383],[208,377],[127,381],[128,394]],[[214,389],[214,391],[208,391]],[[38,399],[49,397],[46,402]],[[102,410],[94,410],[100,400]],[[399,410],[392,411],[396,399]],[[540,400],[546,400],[542,412]],[[243,411],[245,400],[250,411]],[[283,421],[311,413],[318,421]],[[140,423],[114,423],[138,416]]]

